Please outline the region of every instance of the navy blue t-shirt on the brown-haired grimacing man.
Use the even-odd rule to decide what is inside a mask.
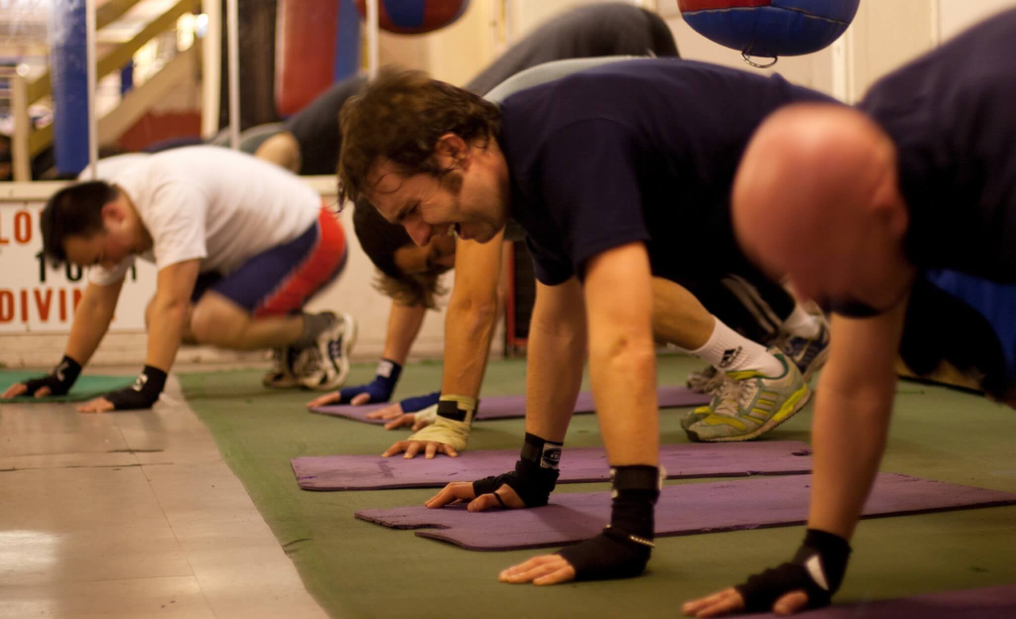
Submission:
[[[499,139],[536,277],[581,276],[592,256],[635,241],[672,280],[743,264],[729,215],[742,152],[770,112],[814,100],[831,101],[779,75],[677,59],[611,63],[509,97]]]

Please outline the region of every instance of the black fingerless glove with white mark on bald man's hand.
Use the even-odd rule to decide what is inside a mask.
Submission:
[[[755,574],[735,589],[744,598],[748,612],[771,610],[776,600],[798,590],[808,594],[808,608],[829,606],[843,581],[849,557],[850,545],[846,540],[809,529],[792,561]]]

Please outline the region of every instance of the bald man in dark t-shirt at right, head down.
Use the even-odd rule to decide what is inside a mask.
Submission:
[[[738,240],[834,312],[808,533],[790,562],[686,604],[687,615],[829,604],[885,448],[914,282],[947,268],[1016,283],[1014,39],[1008,11],[883,78],[860,110],[785,108],[756,132],[735,182]],[[1011,392],[1011,373],[1005,382]]]

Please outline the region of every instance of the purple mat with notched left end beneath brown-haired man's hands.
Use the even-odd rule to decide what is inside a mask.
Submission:
[[[810,475],[763,477],[710,484],[668,486],[656,503],[656,536],[787,527],[808,516]],[[958,486],[905,475],[876,478],[864,517],[1016,504],[1016,494]],[[357,517],[468,550],[559,546],[591,538],[610,521],[608,492],[558,493],[534,509],[470,513],[464,505],[428,509],[365,509]]]

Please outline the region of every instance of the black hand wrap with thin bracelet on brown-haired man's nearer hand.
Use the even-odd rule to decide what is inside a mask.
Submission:
[[[558,552],[575,568],[576,580],[628,578],[645,570],[654,547],[653,509],[662,488],[660,471],[639,465],[611,471],[611,523],[595,538]]]

